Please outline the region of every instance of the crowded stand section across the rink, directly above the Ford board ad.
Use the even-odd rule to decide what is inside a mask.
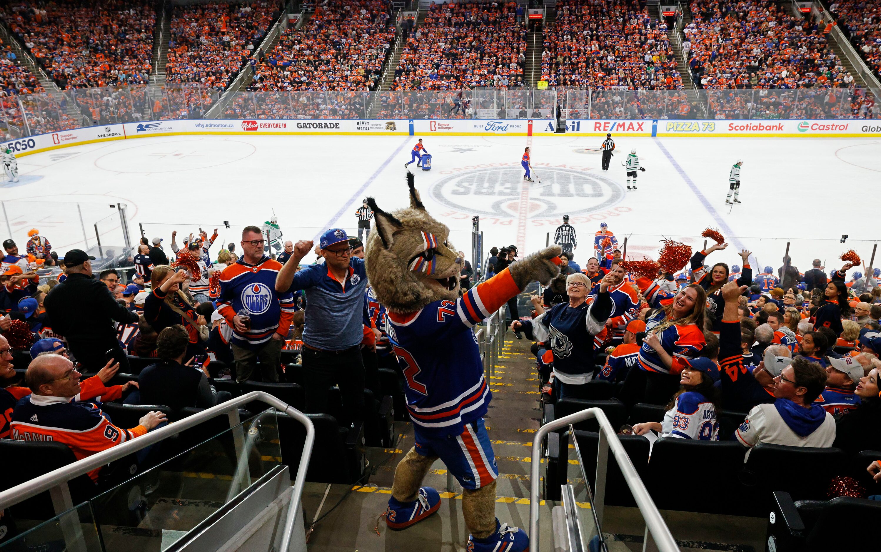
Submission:
[[[407,38],[392,90],[522,86],[526,26],[516,4],[432,4]]]

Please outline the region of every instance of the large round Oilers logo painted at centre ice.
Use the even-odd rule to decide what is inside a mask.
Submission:
[[[624,199],[624,189],[601,174],[541,166],[536,172],[541,183],[524,182],[519,166],[456,172],[435,182],[430,194],[451,209],[501,218],[520,217],[524,198],[529,218],[607,210]]]

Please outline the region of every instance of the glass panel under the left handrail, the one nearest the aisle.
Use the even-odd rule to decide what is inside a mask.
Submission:
[[[275,410],[223,431],[215,417],[151,450],[192,448],[93,498],[108,552],[163,550],[281,464]]]

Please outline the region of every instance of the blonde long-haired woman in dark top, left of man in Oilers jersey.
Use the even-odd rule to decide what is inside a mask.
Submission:
[[[167,264],[160,264],[152,272],[152,291],[144,300],[144,319],[160,333],[163,329],[180,324],[189,335],[189,356],[204,353],[209,328],[204,316],[196,313],[196,307],[181,284],[189,279],[184,269],[175,271]]]

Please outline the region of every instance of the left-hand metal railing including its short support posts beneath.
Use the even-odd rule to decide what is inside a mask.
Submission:
[[[139,438],[132,439],[122,445],[116,445],[100,453],[93,454],[83,460],[78,460],[64,467],[59,467],[55,471],[36,477],[28,482],[21,483],[11,489],[0,492],[0,511],[5,508],[19,504],[30,497],[35,497],[41,492],[48,491],[52,497],[53,506],[56,514],[61,515],[64,512],[70,512],[74,508],[70,497],[70,488],[68,482],[79,475],[87,474],[93,469],[105,466],[114,460],[120,460],[125,456],[137,453],[147,446],[155,445],[167,438],[171,438],[181,431],[189,430],[200,423],[204,423],[211,418],[226,414],[229,418],[230,428],[233,429],[233,443],[235,447],[236,457],[239,458],[238,466],[240,470],[236,472],[238,476],[234,481],[241,482],[241,490],[246,489],[250,483],[248,470],[248,447],[246,435],[241,427],[239,417],[239,408],[252,401],[262,401],[271,407],[284,412],[296,421],[302,423],[306,428],[306,438],[303,442],[303,453],[300,457],[300,464],[297,467],[297,476],[293,484],[292,497],[288,506],[287,517],[285,519],[284,533],[282,534],[281,546],[279,550],[288,550],[291,544],[294,522],[297,519],[297,513],[300,511],[300,500],[303,494],[303,488],[306,484],[306,472],[309,465],[309,459],[312,456],[312,447],[315,443],[315,426],[312,421],[296,408],[292,408],[284,401],[278,400],[275,396],[264,393],[263,391],[253,391],[243,394],[232,401],[226,401],[217,406],[206,408],[202,412],[198,412],[192,416],[182,418],[181,420],[169,423],[157,430],[148,432]],[[248,431],[250,434],[251,431]],[[233,492],[231,488],[230,492]],[[76,513],[74,511],[73,513]],[[62,525],[70,523],[70,519],[62,519]],[[76,537],[74,537],[76,538]],[[74,548],[68,548],[74,549]]]

